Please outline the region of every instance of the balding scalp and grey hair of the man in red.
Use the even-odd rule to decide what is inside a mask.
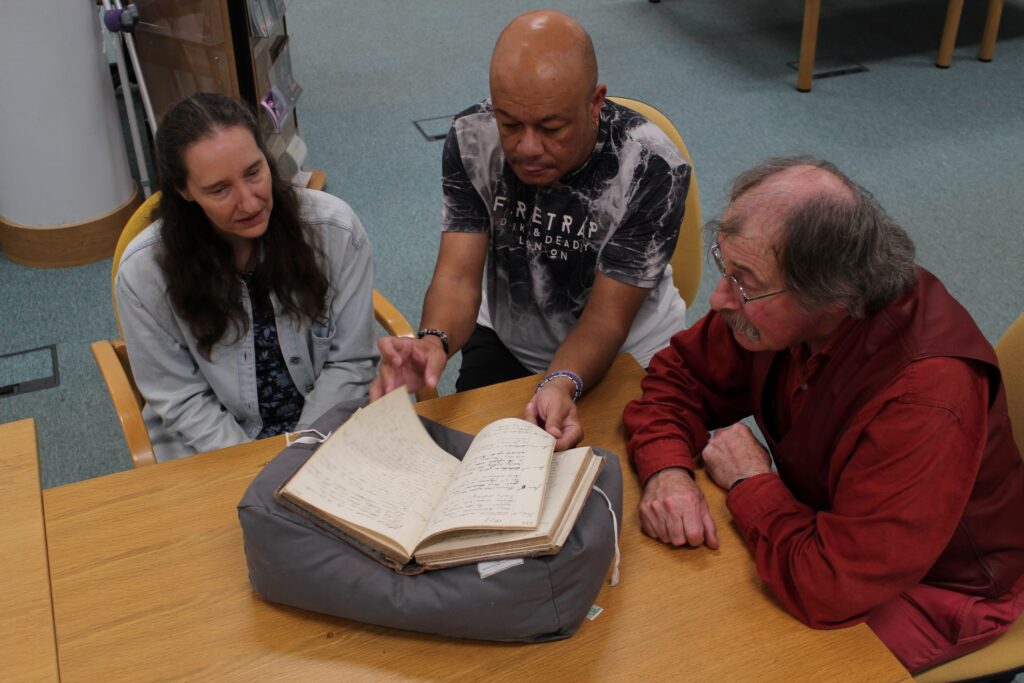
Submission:
[[[862,316],[914,280],[913,242],[866,189],[812,157],[769,159],[732,185],[719,234],[764,239],[808,309],[841,303]]]

